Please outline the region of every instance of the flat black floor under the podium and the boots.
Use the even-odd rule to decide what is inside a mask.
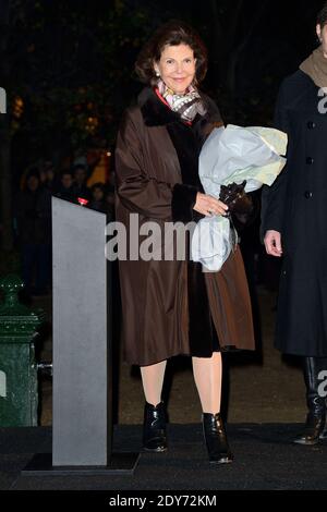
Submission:
[[[101,496],[106,499],[106,507],[109,504],[109,497],[117,497],[118,490],[119,492],[133,490],[134,492],[130,496],[135,496],[135,491],[149,489],[159,490],[160,495],[162,490],[167,490],[170,496],[174,493],[172,491],[179,493],[181,489],[201,489],[202,491],[227,489],[326,490],[327,444],[301,447],[290,442],[298,431],[299,425],[296,424],[229,424],[228,437],[232,446],[234,461],[232,464],[219,466],[208,463],[199,424],[170,424],[168,427],[169,450],[166,453],[141,452],[133,476],[119,473],[110,475],[95,473],[92,476],[78,474],[55,476],[51,472],[48,472],[46,476],[40,476],[39,474],[26,474],[26,472],[22,475],[21,470],[31,462],[33,454],[51,452],[51,429],[49,427],[0,428],[0,490],[52,491],[51,496],[45,497],[51,500],[51,504],[56,503],[58,496],[61,498],[61,490],[104,490],[106,492]],[[119,425],[114,428],[113,452],[120,454],[123,451],[138,453],[141,442],[141,425]],[[41,460],[44,461],[44,459]],[[29,467],[29,470],[32,468]],[[183,492],[183,496],[185,495],[190,497],[190,492]],[[206,492],[202,492],[204,499],[206,499],[205,495]],[[211,502],[210,505],[218,508],[220,503],[218,500],[221,500],[221,496],[218,496],[217,492],[214,496],[217,497],[217,502]],[[87,496],[83,493],[83,501],[85,498]],[[26,501],[26,495],[23,499]],[[34,495],[32,499],[35,504],[37,500]],[[89,503],[90,510],[95,510],[98,495],[94,496],[93,493],[90,499],[93,500]],[[156,493],[149,499],[154,499],[155,504],[165,504],[159,503]],[[41,501],[43,504],[44,501],[45,499]],[[75,501],[76,495],[74,495]],[[10,503],[11,505],[13,503],[12,495]],[[58,504],[62,507],[61,502]],[[171,505],[172,503],[170,501],[166,504]],[[201,505],[204,502],[184,501],[182,498],[180,504]],[[148,507],[144,507],[143,510],[148,510]]]

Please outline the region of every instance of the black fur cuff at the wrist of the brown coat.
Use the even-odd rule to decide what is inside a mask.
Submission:
[[[173,222],[193,220],[193,207],[198,190],[192,185],[177,183],[172,188],[171,212]]]

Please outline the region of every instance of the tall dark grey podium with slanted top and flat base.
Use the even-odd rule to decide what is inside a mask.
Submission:
[[[52,454],[22,474],[132,474],[112,453],[111,272],[106,215],[52,197]]]

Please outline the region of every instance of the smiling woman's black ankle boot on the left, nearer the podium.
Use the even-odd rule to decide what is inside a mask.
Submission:
[[[165,452],[167,450],[164,402],[158,403],[156,406],[145,402],[143,448],[152,452]]]

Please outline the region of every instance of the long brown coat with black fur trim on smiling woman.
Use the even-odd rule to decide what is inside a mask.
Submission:
[[[192,125],[181,121],[145,88],[126,110],[116,150],[116,220],[130,233],[130,214],[142,225],[155,221],[197,221],[193,209],[203,192],[198,154],[210,130],[221,124],[216,105],[203,95],[207,112]],[[187,244],[186,244],[187,245]],[[215,349],[254,349],[251,304],[240,251],[220,272],[179,260],[120,259],[124,357],[146,366],[178,354],[209,357]]]

